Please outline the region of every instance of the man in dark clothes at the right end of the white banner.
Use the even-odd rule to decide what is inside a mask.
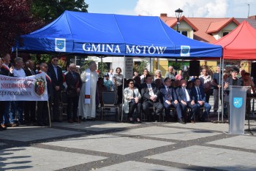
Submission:
[[[48,92],[48,102],[51,102],[53,99],[53,86],[51,85],[52,79],[50,72],[48,72],[48,65],[45,63],[40,64],[39,73],[45,73],[45,78],[47,82],[47,92]],[[49,110],[48,110],[47,101],[38,101],[37,102],[37,125],[45,126],[49,125]]]

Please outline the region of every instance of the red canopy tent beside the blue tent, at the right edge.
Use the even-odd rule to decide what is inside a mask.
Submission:
[[[213,44],[223,47],[223,59],[256,59],[256,30],[246,20]]]

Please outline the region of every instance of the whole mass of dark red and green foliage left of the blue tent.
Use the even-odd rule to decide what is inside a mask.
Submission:
[[[1,0],[0,55],[10,53],[15,40],[61,15],[65,10],[87,12],[83,0]]]

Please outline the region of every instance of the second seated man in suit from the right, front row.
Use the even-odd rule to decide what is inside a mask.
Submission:
[[[193,118],[195,117],[198,107],[195,104],[195,97],[192,97],[191,90],[186,88],[187,81],[181,78],[181,86],[176,88],[176,94],[178,97],[178,102],[181,104],[182,115],[186,116],[187,107],[191,109],[190,115],[187,118],[187,121],[194,123]]]

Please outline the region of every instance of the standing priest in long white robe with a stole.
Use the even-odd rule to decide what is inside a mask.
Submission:
[[[79,96],[79,115],[83,121],[94,120],[96,117],[96,93],[98,75],[97,65],[94,61],[89,62],[89,68],[82,72],[83,86]]]

